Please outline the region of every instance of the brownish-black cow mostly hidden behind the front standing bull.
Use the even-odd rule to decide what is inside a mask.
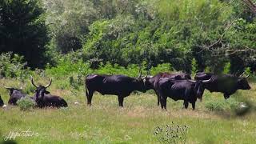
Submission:
[[[154,92],[158,96],[158,106],[159,106],[160,97],[159,97],[158,91],[157,91],[157,83],[160,78],[170,78],[170,79],[175,79],[175,80],[191,79],[190,74],[185,74],[185,73],[170,74],[170,73],[165,72],[165,73],[158,73],[158,74],[154,75],[154,77],[150,77],[148,75],[150,75],[149,72],[145,78],[146,90],[150,90],[150,89],[154,90]]]

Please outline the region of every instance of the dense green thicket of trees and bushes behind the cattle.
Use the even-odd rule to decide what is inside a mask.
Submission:
[[[164,66],[188,73],[256,70],[255,15],[239,0],[4,0],[0,4],[0,34],[5,36],[0,52],[14,51],[11,57],[24,56],[26,66],[32,68],[43,64],[46,74],[135,75],[138,64],[145,70]],[[15,33],[4,21],[10,14],[17,14],[11,24],[24,24],[13,24]],[[28,47],[6,37],[6,30],[16,40],[25,38],[22,42]],[[26,39],[32,36],[36,40]],[[22,52],[5,45],[7,40],[21,46]]]

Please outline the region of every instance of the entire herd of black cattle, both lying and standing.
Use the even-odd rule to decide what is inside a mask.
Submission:
[[[210,92],[221,92],[224,98],[230,98],[231,94],[234,94],[236,90],[250,90],[250,86],[246,80],[246,77],[237,76],[236,74],[211,74],[205,72],[198,72],[194,80],[191,80],[189,74],[178,73],[159,73],[150,76],[149,71],[146,76],[142,77],[142,71],[139,71],[138,78],[131,78],[126,75],[106,75],[106,74],[89,74],[86,76],[86,98],[87,104],[91,105],[91,100],[95,91],[104,94],[113,94],[118,96],[119,106],[123,106],[123,100],[130,95],[131,92],[138,90],[146,92],[146,90],[154,90],[158,96],[158,105],[162,109],[166,109],[167,97],[177,100],[183,100],[185,108],[192,104],[192,108],[195,108],[195,102],[197,99],[202,101],[202,95],[204,90],[210,90]],[[34,84],[33,78],[31,83],[35,86],[35,94],[30,97],[32,101],[36,103],[36,106],[42,107],[66,107],[68,106],[66,101],[58,96],[50,94],[46,90],[51,85],[52,80],[46,86],[37,86]],[[22,89],[6,87],[10,90],[10,99],[8,104],[17,105],[17,102],[21,98],[25,98],[26,94],[22,93]],[[0,106],[3,106],[4,102],[0,96]]]

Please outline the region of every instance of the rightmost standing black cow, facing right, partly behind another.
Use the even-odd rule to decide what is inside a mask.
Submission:
[[[242,74],[237,77],[232,74],[215,75],[200,72],[195,75],[194,79],[206,80],[210,77],[213,77],[212,81],[208,82],[204,87],[210,92],[221,92],[225,99],[230,98],[230,95],[234,94],[237,90],[250,90],[250,86],[246,80],[247,77],[243,78]]]

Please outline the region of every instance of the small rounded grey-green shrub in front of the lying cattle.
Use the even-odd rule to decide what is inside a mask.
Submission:
[[[30,110],[36,106],[35,102],[30,97],[21,98],[17,102],[20,110]]]

